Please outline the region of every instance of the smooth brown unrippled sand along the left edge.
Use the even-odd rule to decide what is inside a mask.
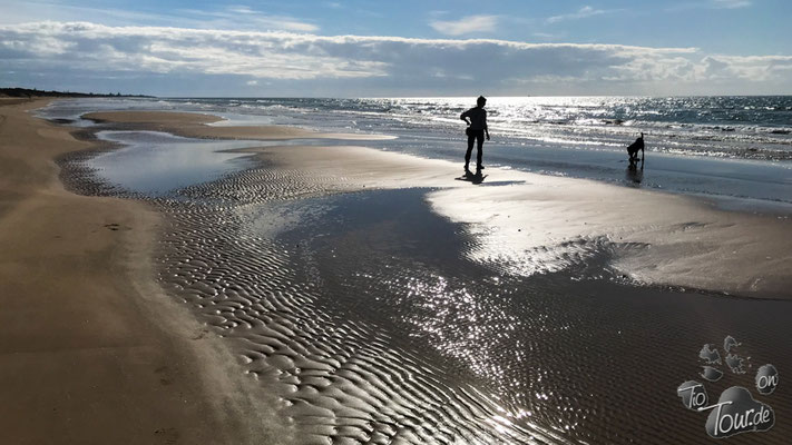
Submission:
[[[63,189],[91,145],[0,107],[0,431],[13,444],[280,443],[267,395],[153,279],[163,219]],[[276,437],[276,438],[275,438]]]

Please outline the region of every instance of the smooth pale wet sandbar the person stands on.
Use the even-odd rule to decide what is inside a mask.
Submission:
[[[743,297],[792,298],[792,221],[718,210],[701,199],[595,181],[488,169],[479,187],[451,180],[459,166],[361,147],[267,147],[264,158],[353,189],[431,187],[432,209],[481,227],[472,258],[530,276],[565,266],[542,254],[617,251],[620,274],[652,285]],[[254,150],[247,150],[254,151]],[[561,246],[571,245],[570,248]]]

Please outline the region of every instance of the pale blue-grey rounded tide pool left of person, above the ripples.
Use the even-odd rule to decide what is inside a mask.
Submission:
[[[248,168],[247,154],[222,150],[266,145],[261,141],[196,140],[155,131],[101,131],[124,145],[87,161],[109,184],[133,192],[165,195]]]

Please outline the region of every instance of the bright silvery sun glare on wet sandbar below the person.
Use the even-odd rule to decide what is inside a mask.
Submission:
[[[443,189],[427,196],[432,209],[466,222],[477,244],[466,256],[510,275],[530,277],[583,264],[608,234],[596,212],[569,199],[548,199],[558,186],[529,182],[497,188]],[[600,218],[602,219],[602,218]],[[597,221],[595,226],[591,222]],[[598,227],[599,230],[596,230]],[[618,226],[607,226],[613,231]]]

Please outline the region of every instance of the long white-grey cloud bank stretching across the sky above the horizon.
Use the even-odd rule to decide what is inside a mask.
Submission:
[[[129,79],[137,79],[143,90],[136,92],[170,95],[202,88],[233,95],[244,90],[231,86],[254,81],[303,96],[792,91],[792,56],[87,22],[0,26],[0,65],[13,71],[6,83],[56,79],[69,89],[128,90]]]

